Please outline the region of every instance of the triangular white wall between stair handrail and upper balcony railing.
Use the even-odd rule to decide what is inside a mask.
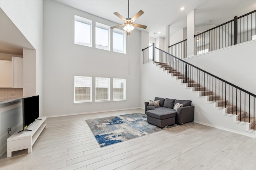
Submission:
[[[185,59],[236,86],[256,94],[256,41]]]

